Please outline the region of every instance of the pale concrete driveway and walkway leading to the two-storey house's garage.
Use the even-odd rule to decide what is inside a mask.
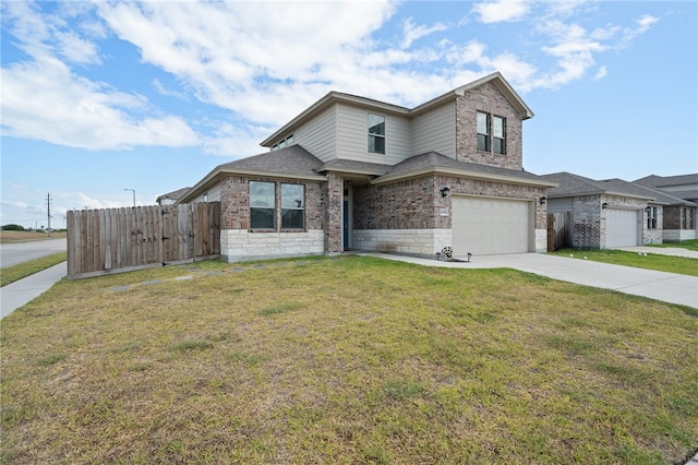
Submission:
[[[432,259],[417,259],[385,253],[360,254],[399,260],[424,266],[465,270],[508,267],[568,283],[613,289],[624,294],[698,308],[698,277],[696,276],[612,265],[583,260],[582,258],[555,257],[545,253],[513,253],[472,257],[470,263],[467,263],[442,262]],[[581,257],[583,257],[583,252]]]

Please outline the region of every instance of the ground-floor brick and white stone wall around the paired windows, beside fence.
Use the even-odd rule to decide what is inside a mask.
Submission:
[[[250,229],[250,181],[276,182],[275,231]],[[324,251],[324,183],[305,181],[305,230],[280,229],[280,184],[297,179],[227,176],[220,181],[220,254],[228,262],[322,254]]]

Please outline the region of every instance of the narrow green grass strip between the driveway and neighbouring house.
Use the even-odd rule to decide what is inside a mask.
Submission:
[[[650,250],[648,250],[647,257],[637,252],[609,249],[562,249],[550,253],[552,255],[559,257],[574,255],[575,260],[585,260],[586,257],[587,260],[592,260],[594,262],[698,276],[698,260],[688,259],[685,257],[671,257],[662,255],[659,253],[651,253]]]

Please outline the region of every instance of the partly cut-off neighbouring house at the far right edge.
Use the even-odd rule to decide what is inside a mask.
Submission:
[[[673,196],[672,203],[664,207],[664,241],[698,239],[698,174],[666,177],[652,175],[634,182]]]

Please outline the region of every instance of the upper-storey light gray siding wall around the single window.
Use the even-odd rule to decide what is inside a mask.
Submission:
[[[385,117],[385,154],[369,153],[369,112]],[[337,118],[338,158],[396,165],[411,155],[407,118],[341,104]]]

